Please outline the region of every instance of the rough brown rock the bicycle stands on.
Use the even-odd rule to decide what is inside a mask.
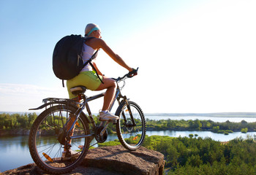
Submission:
[[[90,149],[83,163],[69,174],[120,175],[120,174],[163,174],[164,155],[144,147],[135,152],[121,145]],[[45,174],[34,163],[21,166],[1,174]]]

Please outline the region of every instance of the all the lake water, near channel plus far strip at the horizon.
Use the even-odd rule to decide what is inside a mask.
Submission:
[[[245,120],[248,123],[256,122],[256,117],[237,117],[233,116],[225,116],[219,117],[214,114],[209,116],[194,114],[145,114],[146,118],[151,120],[212,120],[214,122],[225,122],[229,120],[230,122],[241,122],[241,120]],[[224,135],[221,133],[211,133],[210,131],[147,131],[148,136],[158,135],[158,136],[172,136],[172,137],[189,137],[189,134],[192,133],[197,134],[202,138],[211,137],[216,141],[230,141],[232,139],[236,139],[237,137],[246,138],[246,136],[254,136],[256,132],[252,133],[241,133],[234,132],[229,135]],[[109,135],[107,141],[112,141],[117,139],[115,134]],[[31,159],[29,153],[29,137],[28,136],[1,136],[0,137],[0,154],[1,154],[1,163],[0,163],[0,171],[7,171],[9,169],[18,168],[19,166],[24,166],[29,163],[34,163]],[[95,143],[95,141],[94,141]],[[97,147],[97,146],[96,146]]]

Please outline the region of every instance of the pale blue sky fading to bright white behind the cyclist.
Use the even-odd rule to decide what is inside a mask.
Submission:
[[[52,71],[56,42],[102,28],[139,74],[124,88],[148,112],[255,112],[255,1],[0,1],[0,111],[67,98]],[[127,71],[102,51],[109,77]],[[89,92],[93,95],[95,92]],[[91,104],[97,112],[102,101]]]

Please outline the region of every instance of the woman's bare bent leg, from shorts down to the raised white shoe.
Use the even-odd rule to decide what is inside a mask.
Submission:
[[[113,102],[113,99],[116,94],[116,81],[108,78],[103,77],[104,84],[100,84],[97,90],[104,90],[107,89],[104,96],[104,102],[102,106],[102,111],[106,111],[110,108],[110,104]]]

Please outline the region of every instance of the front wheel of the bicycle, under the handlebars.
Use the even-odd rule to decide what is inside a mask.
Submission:
[[[133,101],[128,101],[128,103],[136,125],[132,125],[127,104],[121,103],[116,110],[116,115],[120,117],[116,123],[116,134],[123,147],[135,151],[143,144],[145,139],[146,121],[140,106]]]

